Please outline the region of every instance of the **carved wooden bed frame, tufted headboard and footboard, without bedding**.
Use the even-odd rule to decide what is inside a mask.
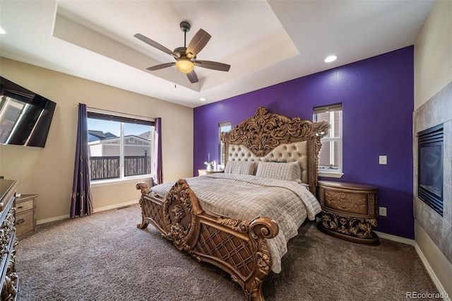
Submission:
[[[228,160],[299,162],[300,180],[315,195],[320,138],[327,131],[326,122],[289,119],[259,107],[253,117],[221,134],[226,166]],[[271,216],[239,220],[207,213],[186,179],[175,182],[165,198],[144,182],[136,188],[141,189],[142,221],[138,228],[151,223],[178,249],[230,273],[246,300],[264,300],[261,285],[272,268],[268,240],[280,231]]]

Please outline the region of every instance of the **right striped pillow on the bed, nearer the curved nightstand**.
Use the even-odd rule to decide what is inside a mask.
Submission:
[[[300,177],[302,177],[302,169],[299,167],[298,162],[259,162],[257,165],[256,176],[299,182]]]

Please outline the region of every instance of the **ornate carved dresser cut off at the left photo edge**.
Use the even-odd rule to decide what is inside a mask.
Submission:
[[[16,274],[16,238],[14,201],[16,198],[17,182],[0,179],[0,240],[1,240],[1,267],[0,300],[16,300],[19,288],[19,279]]]

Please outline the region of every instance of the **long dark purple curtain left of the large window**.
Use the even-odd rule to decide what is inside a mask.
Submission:
[[[88,114],[86,105],[78,104],[76,160],[73,168],[71,218],[93,213],[90,165],[88,161]]]

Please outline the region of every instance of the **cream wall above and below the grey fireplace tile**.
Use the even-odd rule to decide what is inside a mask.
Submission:
[[[415,110],[452,81],[452,1],[435,1],[415,43]],[[439,112],[441,113],[441,112]],[[437,280],[452,296],[452,264],[415,222],[415,240]]]

